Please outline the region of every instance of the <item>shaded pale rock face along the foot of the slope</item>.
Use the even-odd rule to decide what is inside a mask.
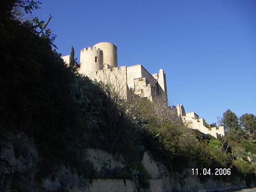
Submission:
[[[39,171],[44,167],[33,139],[23,133],[9,134],[1,138],[0,144],[0,191],[137,191],[134,180],[97,179],[90,183],[76,170],[64,165],[58,165],[51,175],[40,177]],[[106,151],[89,148],[84,161],[92,162],[100,172],[102,167],[110,170],[124,167],[122,159]],[[189,170],[168,172],[148,152],[144,153],[142,164],[152,177],[150,188],[145,191],[214,191],[245,186],[245,182],[239,179],[233,183],[213,179],[202,183],[198,177],[189,174]]]

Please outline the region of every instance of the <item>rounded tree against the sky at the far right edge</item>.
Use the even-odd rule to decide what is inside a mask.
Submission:
[[[253,137],[253,133],[256,131],[256,116],[253,114],[244,114],[240,117],[240,121],[250,137]]]

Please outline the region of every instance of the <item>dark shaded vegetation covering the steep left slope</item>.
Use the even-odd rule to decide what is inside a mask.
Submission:
[[[37,8],[34,1],[25,3],[25,10]],[[1,12],[1,136],[25,132],[35,139],[43,163],[39,178],[59,164],[95,178],[92,165],[81,161],[79,151],[88,147],[123,154],[127,169],[132,168],[142,158],[138,125],[118,108],[108,86],[65,67],[52,50],[51,31],[36,32],[45,28],[43,21],[34,20],[40,24],[37,28],[14,17],[12,7],[19,4],[23,6],[22,1],[8,1]],[[132,156],[134,152],[138,156]]]

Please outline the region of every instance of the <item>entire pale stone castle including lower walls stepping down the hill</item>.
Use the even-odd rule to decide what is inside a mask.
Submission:
[[[69,65],[70,56],[63,56],[62,59]],[[159,73],[150,74],[141,64],[132,66],[117,65],[117,47],[108,42],[100,42],[92,47],[83,48],[80,51],[80,66],[78,73],[88,76],[92,80],[102,81],[111,84],[123,99],[128,99],[136,94],[142,98],[153,101],[154,97],[162,97],[167,101],[166,74],[163,69]],[[224,135],[224,129],[219,127],[205,127],[203,119],[191,113],[185,113],[183,105],[173,107],[177,115],[184,123],[205,134],[217,137],[217,133]],[[197,122],[197,123],[196,123]]]

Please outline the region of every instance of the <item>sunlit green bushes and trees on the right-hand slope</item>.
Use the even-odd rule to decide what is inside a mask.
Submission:
[[[162,103],[164,102],[163,99]],[[177,117],[175,118],[170,108],[163,107],[159,112],[155,110],[155,103],[139,98],[132,100],[132,103],[133,107],[130,108],[135,111],[133,115],[137,119],[142,119],[146,125],[142,134],[143,145],[154,159],[163,162],[170,172],[173,170],[180,172],[186,167],[212,168],[212,170],[230,168],[232,177],[222,176],[224,180],[241,177],[248,185],[253,183],[256,144],[252,136],[252,130],[255,129],[252,123],[249,134],[248,129],[242,129],[245,123],[239,121],[236,114],[228,109],[222,118],[226,130],[225,137],[218,136],[218,139],[211,136],[202,137],[188,129]],[[161,106],[159,98],[157,103]],[[250,116],[249,121],[253,122],[251,117],[253,116]],[[212,126],[216,126],[216,123]],[[217,178],[220,179],[219,176]],[[201,179],[204,180],[205,176]]]

